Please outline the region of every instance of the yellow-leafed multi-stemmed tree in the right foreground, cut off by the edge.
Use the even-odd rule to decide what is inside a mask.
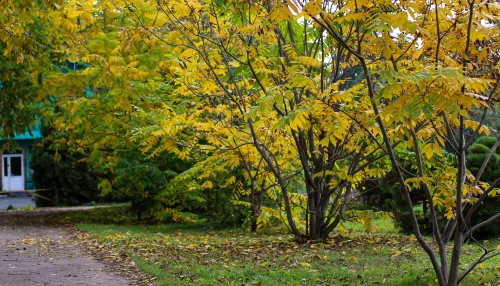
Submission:
[[[461,270],[464,240],[474,240],[475,229],[500,217],[471,225],[482,201],[493,196],[500,178],[491,185],[472,176],[465,160],[478,133],[489,133],[482,121],[470,119],[473,108],[487,112],[498,101],[498,3],[458,1],[354,1],[329,6],[311,1],[294,2],[336,38],[363,69],[364,98],[372,106],[375,133],[397,174],[406,198],[416,238],[429,255],[440,285],[457,285],[479,263],[500,254],[483,250],[475,262]],[[347,36],[339,26],[351,26]],[[484,117],[483,117],[484,118]],[[408,184],[407,170],[394,152],[394,144],[407,140],[415,152],[417,174]],[[437,174],[424,166],[442,148],[454,156]],[[492,151],[494,152],[494,150]],[[488,164],[488,159],[483,166]],[[431,211],[435,251],[422,236],[409,192],[422,187]],[[440,228],[439,210],[447,223]],[[446,246],[453,239],[451,259]]]

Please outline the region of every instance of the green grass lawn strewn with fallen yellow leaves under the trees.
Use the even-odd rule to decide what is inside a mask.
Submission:
[[[303,245],[269,230],[251,234],[206,224],[141,225],[126,207],[73,213],[68,219],[101,243],[125,251],[159,285],[437,285],[415,239],[384,219],[376,221],[377,233],[350,224],[348,234]],[[494,248],[500,240],[483,243]],[[481,254],[474,245],[464,253],[464,263]],[[462,285],[487,283],[500,283],[500,256],[478,266]]]

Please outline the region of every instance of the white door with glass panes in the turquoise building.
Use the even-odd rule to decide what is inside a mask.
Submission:
[[[4,191],[24,190],[23,154],[2,155],[2,188]]]

